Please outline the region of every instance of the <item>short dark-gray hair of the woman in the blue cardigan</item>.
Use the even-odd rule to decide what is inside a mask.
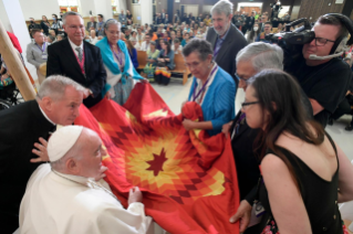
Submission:
[[[199,54],[199,59],[201,61],[206,61],[207,56],[214,55],[212,46],[211,44],[201,39],[191,39],[183,49],[183,56],[187,57],[189,56],[193,52],[196,52]]]

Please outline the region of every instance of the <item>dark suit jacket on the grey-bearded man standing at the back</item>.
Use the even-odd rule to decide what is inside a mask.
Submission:
[[[214,28],[210,28],[207,31],[206,40],[211,43],[212,49],[215,50],[218,34]],[[238,85],[238,79],[236,78],[236,57],[238,52],[247,46],[248,42],[242,33],[233,25],[230,24],[229,32],[226,40],[224,41],[218,55],[216,57],[216,63],[231,75]]]

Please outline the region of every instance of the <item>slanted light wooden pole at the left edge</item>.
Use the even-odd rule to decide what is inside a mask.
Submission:
[[[7,68],[11,73],[15,85],[24,100],[31,100],[35,97],[34,88],[27,75],[24,66],[13,47],[13,44],[0,20],[0,54],[3,57]]]

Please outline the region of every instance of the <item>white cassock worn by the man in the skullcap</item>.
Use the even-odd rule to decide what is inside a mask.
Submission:
[[[144,204],[127,210],[102,188],[83,185],[86,178],[51,171],[40,166],[30,178],[20,208],[21,234],[131,234],[146,233],[152,217]],[[111,191],[108,184],[101,180]]]

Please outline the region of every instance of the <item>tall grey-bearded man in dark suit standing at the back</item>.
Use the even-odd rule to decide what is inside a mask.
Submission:
[[[225,12],[222,9],[227,9]],[[231,23],[232,3],[228,0],[218,1],[211,9],[214,28],[207,31],[206,40],[214,49],[214,60],[229,73],[238,85],[236,57],[238,52],[247,45],[247,40]]]

